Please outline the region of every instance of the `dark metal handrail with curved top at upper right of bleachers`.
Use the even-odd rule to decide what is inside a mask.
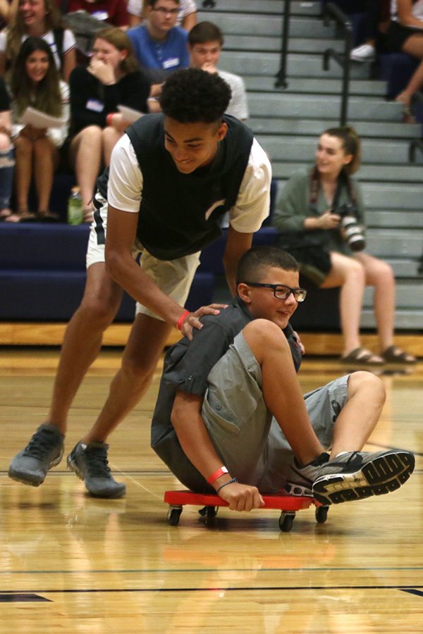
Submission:
[[[343,33],[345,46],[343,54],[334,49],[326,49],[323,54],[323,68],[329,70],[329,60],[332,57],[343,68],[340,124],[345,125],[348,120],[348,97],[350,92],[350,51],[353,48],[353,25],[341,9],[329,2],[323,9],[322,18],[325,26],[329,26],[331,20],[335,20]]]

